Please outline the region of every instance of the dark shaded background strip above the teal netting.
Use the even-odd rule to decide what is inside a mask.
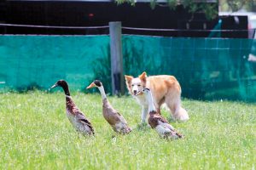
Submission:
[[[218,5],[216,5],[218,11]],[[218,25],[218,20],[222,24]],[[122,26],[176,29],[177,31],[131,31],[124,34],[141,34],[167,37],[208,37],[212,29],[224,31],[217,37],[247,37],[247,16],[221,16],[207,20],[204,13],[190,14],[182,5],[170,9],[166,5],[136,3],[135,6],[113,2],[79,1],[6,1],[0,3],[0,22],[40,26],[108,26],[110,21],[121,21]],[[199,31],[195,31],[199,30]],[[2,34],[89,35],[108,34],[106,29],[53,29],[36,27],[0,26]]]

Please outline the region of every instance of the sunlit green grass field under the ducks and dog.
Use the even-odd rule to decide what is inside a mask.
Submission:
[[[108,97],[133,132],[113,138],[99,94],[73,94],[96,129],[79,136],[66,117],[63,93],[0,94],[0,169],[255,169],[256,105],[183,100],[189,122],[172,122],[184,139],[160,139],[139,128],[141,108]],[[163,110],[163,116],[170,117]]]

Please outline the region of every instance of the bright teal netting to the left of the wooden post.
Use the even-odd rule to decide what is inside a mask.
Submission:
[[[97,61],[108,56],[108,36],[1,36],[0,88],[48,89],[65,79],[81,90],[97,77]]]

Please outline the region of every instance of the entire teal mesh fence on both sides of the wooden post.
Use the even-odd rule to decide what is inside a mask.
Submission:
[[[248,60],[255,40],[123,36],[122,42],[127,75],[173,75],[189,99],[256,101],[256,62]],[[3,92],[48,89],[58,79],[83,90],[96,78],[111,92],[108,36],[2,36],[0,61]]]

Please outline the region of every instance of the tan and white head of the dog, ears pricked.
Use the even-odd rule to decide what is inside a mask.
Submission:
[[[143,91],[143,88],[146,88],[147,73],[144,71],[143,74],[136,78],[125,75],[125,82],[129,93],[131,95],[136,95],[137,93]]]

